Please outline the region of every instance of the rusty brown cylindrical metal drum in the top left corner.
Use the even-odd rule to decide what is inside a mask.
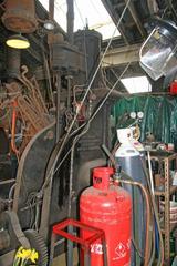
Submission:
[[[8,30],[31,33],[37,30],[34,0],[7,0],[2,22]]]

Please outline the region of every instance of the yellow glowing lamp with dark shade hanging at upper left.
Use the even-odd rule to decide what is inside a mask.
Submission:
[[[8,47],[14,49],[28,49],[30,47],[29,40],[21,34],[14,34],[9,37],[6,43]]]

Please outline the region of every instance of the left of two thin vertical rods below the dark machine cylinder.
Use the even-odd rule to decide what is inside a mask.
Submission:
[[[61,94],[61,75],[58,73],[58,84],[56,84],[56,139],[55,142],[59,142],[60,139],[60,94]]]

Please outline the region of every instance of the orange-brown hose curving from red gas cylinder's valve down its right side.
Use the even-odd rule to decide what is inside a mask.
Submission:
[[[150,205],[149,205],[149,200],[148,200],[148,193],[144,185],[136,181],[126,181],[126,180],[117,180],[116,183],[123,183],[123,184],[131,184],[134,186],[138,186],[142,192],[144,193],[145,196],[145,202],[146,202],[146,243],[145,243],[145,260],[144,260],[144,266],[148,266],[149,262],[149,235],[148,235],[148,228],[150,226]]]

